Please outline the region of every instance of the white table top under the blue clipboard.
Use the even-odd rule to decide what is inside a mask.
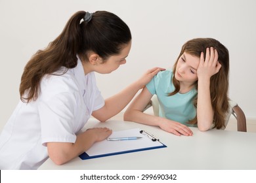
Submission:
[[[202,132],[191,127],[194,133],[192,137],[178,137],[149,125],[115,120],[100,123],[93,119],[87,122],[83,130],[105,126],[114,131],[144,129],[158,137],[167,148],[86,160],[77,157],[64,165],[55,165],[49,158],[39,169],[256,169],[256,133],[217,129]]]

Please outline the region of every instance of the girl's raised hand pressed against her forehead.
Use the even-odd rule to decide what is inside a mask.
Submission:
[[[211,78],[217,74],[221,69],[221,63],[218,61],[218,52],[213,47],[206,48],[206,56],[203,59],[203,52],[200,56],[200,63],[198,66],[198,78]]]

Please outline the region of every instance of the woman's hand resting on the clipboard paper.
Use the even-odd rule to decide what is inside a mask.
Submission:
[[[87,131],[92,133],[95,138],[95,142],[103,141],[112,134],[112,130],[107,127],[94,127],[87,129]]]

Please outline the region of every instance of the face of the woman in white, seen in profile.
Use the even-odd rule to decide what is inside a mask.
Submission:
[[[120,54],[116,56],[110,56],[104,63],[100,63],[97,67],[97,71],[100,74],[108,74],[115,71],[120,65],[126,63],[126,59],[131,50],[131,41],[126,44],[121,50]]]

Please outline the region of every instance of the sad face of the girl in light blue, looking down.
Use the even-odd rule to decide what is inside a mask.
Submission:
[[[175,78],[179,80],[179,82],[194,84],[194,82],[198,80],[196,71],[199,63],[199,57],[184,52],[177,62]]]

